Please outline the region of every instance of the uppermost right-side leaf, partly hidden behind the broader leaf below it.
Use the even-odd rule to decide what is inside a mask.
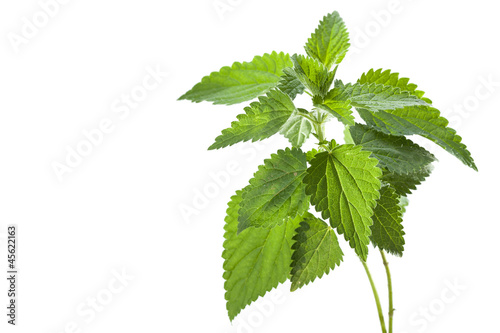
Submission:
[[[424,92],[417,90],[417,85],[409,82],[410,79],[402,77],[399,78],[399,73],[392,73],[389,69],[383,71],[382,69],[373,70],[370,69],[367,73],[363,73],[358,83],[379,83],[386,86],[393,86],[401,89],[402,91],[408,91],[414,96],[424,100],[428,104],[432,104],[432,101],[424,97]]]

